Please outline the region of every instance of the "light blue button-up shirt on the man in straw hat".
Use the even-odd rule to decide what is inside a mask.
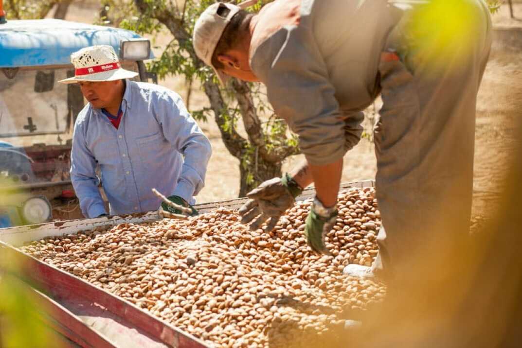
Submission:
[[[161,201],[152,188],[194,203],[212,150],[181,97],[161,86],[126,80],[121,107],[118,129],[90,103],[76,119],[70,177],[82,213],[89,218],[106,213],[100,180],[111,214],[158,209]]]

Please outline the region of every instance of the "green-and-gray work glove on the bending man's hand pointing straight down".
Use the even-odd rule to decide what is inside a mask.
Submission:
[[[331,255],[325,245],[325,236],[337,219],[337,208],[325,208],[321,201],[314,199],[310,213],[306,218],[304,235],[306,243],[319,254]]]

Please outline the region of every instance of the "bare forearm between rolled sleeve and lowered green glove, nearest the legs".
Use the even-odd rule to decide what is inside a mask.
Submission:
[[[342,158],[325,165],[309,164],[317,198],[327,208],[335,206],[342,174]]]

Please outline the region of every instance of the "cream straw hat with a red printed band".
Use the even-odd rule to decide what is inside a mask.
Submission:
[[[74,65],[75,76],[60,82],[114,81],[138,75],[135,71],[125,70],[121,67],[116,52],[109,45],[85,47],[71,54],[70,62]]]

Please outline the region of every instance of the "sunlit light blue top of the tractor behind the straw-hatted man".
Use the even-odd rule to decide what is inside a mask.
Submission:
[[[119,55],[120,41],[139,38],[125,29],[60,19],[8,20],[0,24],[0,68],[68,65],[71,53],[93,45],[111,45]]]

